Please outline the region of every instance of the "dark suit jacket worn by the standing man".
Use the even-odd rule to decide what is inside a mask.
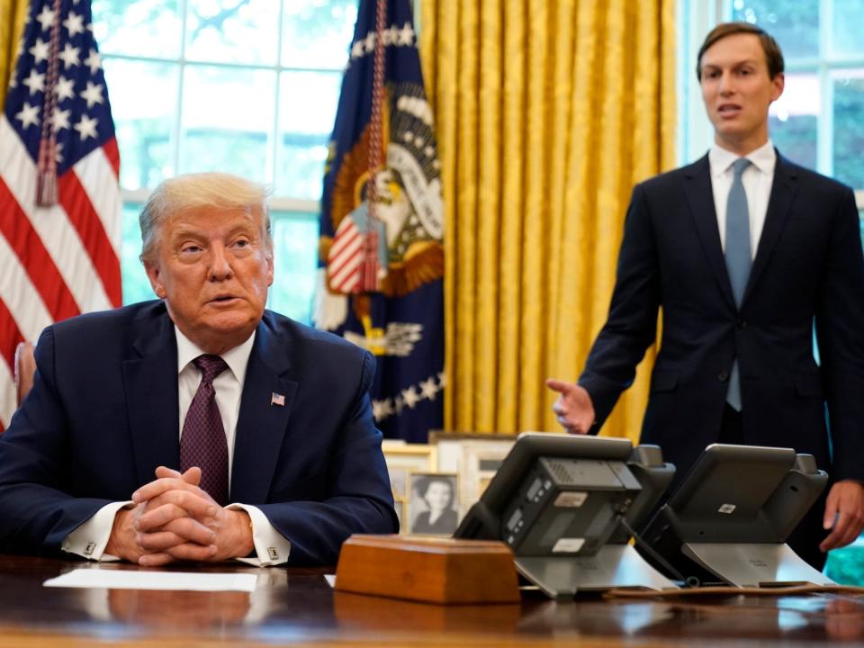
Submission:
[[[864,261],[851,189],[778,155],[739,309],[707,157],[638,184],[608,321],[579,381],[600,424],[653,343],[659,307],[642,442],[662,446],[679,479],[717,440],[737,357],[747,444],[793,447],[835,480],[864,480]]]

